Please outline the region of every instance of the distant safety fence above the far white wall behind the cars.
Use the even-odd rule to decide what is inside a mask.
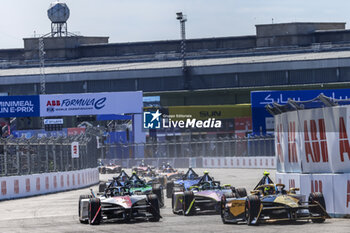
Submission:
[[[141,144],[105,144],[101,158],[190,158],[274,156],[274,137],[213,138]],[[138,153],[136,153],[136,151]],[[142,153],[140,153],[142,152]],[[135,156],[136,155],[136,156]]]

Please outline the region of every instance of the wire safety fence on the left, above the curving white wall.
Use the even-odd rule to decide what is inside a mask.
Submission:
[[[0,176],[28,175],[94,168],[97,164],[96,137],[0,139]]]

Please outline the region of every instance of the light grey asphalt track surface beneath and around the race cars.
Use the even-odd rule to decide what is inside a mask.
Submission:
[[[195,169],[202,173],[203,169]],[[130,172],[129,170],[127,170]],[[208,169],[210,175],[224,184],[235,187],[254,188],[261,178],[261,169]],[[271,170],[271,177],[275,171]],[[107,180],[112,175],[101,175]],[[97,190],[97,185],[93,186]],[[103,223],[98,226],[81,224],[78,220],[78,198],[88,194],[89,189],[42,195],[0,202],[0,232],[350,232],[350,219],[327,219],[325,223],[297,222],[290,224],[246,224],[224,225],[219,215],[178,216],[171,211],[171,199],[166,199],[166,207],[161,209],[162,219],[153,223],[139,221],[132,223]]]

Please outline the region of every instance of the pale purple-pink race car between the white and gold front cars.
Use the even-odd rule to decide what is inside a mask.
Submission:
[[[188,191],[174,192],[172,195],[172,209],[174,214],[185,216],[197,213],[220,213],[221,197],[246,196],[244,188],[235,189],[231,185],[220,186],[219,181],[214,181],[208,172],[204,172],[198,184]]]

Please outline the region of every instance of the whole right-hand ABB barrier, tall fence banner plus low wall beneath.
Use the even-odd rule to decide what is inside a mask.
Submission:
[[[350,216],[350,106],[275,116],[276,182],[308,198],[322,192],[327,212]]]

